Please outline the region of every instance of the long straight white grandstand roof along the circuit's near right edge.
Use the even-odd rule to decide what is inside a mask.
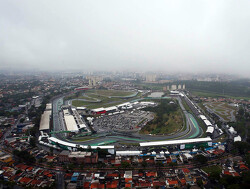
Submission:
[[[183,139],[183,140],[166,140],[157,142],[142,142],[140,146],[162,146],[162,145],[178,145],[178,144],[189,144],[189,143],[199,143],[199,142],[211,142],[210,137],[207,138],[194,138],[194,139]]]

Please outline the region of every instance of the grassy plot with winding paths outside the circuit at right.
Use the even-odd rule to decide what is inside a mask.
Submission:
[[[234,121],[237,108],[226,102],[206,102],[203,103],[205,107],[212,110],[224,121]]]

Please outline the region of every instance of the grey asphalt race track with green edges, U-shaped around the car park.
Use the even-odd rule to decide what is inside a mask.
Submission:
[[[132,134],[131,136],[124,136],[122,134],[117,133],[98,133],[100,137],[89,141],[83,142],[74,142],[77,144],[85,144],[85,145],[93,145],[98,143],[103,143],[107,141],[126,141],[126,142],[146,142],[146,141],[156,141],[156,140],[176,140],[176,139],[190,139],[190,138],[198,138],[203,133],[202,129],[199,127],[197,121],[193,117],[192,114],[188,113],[184,106],[182,105],[182,101],[179,97],[177,97],[179,105],[186,117],[186,129],[182,130],[181,132],[173,133],[171,135],[164,135],[164,136],[152,136],[152,135],[141,135],[138,133]],[[63,97],[58,97],[53,100],[53,131],[63,131],[65,130],[65,126],[63,120],[60,119],[59,110],[60,106],[63,105]],[[54,137],[57,137],[61,140],[65,139],[65,134],[57,133],[53,134]],[[69,141],[69,140],[67,140]],[[70,141],[73,142],[73,141]]]

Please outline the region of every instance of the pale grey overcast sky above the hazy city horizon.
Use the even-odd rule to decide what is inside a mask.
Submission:
[[[249,0],[0,0],[0,69],[249,76]]]

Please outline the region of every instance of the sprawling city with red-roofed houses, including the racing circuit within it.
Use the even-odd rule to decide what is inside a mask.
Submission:
[[[204,95],[194,87],[228,77],[97,72],[0,78],[4,187],[250,186],[249,96]]]

